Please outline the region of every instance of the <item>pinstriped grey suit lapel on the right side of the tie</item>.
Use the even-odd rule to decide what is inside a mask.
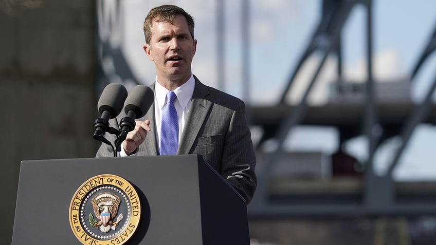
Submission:
[[[209,89],[195,78],[195,88],[192,94],[191,108],[189,109],[188,119],[185,123],[185,129],[181,136],[180,144],[177,150],[178,155],[189,154],[192,145],[197,138],[198,131],[201,129],[205,118],[212,106],[212,102],[206,100],[209,95]]]

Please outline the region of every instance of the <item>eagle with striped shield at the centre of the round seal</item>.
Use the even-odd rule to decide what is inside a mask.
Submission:
[[[93,214],[89,214],[89,223],[93,227],[99,227],[100,231],[104,233],[109,232],[111,229],[115,230],[118,223],[123,218],[122,214],[117,217],[121,199],[113,193],[103,192],[96,195],[91,202],[93,204],[95,218]],[[116,220],[115,217],[117,217]]]

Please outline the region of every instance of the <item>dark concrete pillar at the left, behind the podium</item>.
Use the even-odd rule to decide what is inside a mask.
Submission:
[[[95,30],[94,1],[0,2],[1,243],[11,241],[22,160],[95,155]]]

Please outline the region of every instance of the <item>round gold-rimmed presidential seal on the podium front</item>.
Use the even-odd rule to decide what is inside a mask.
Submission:
[[[141,217],[133,185],[116,175],[98,175],[84,182],[72,197],[69,223],[83,244],[124,244]]]

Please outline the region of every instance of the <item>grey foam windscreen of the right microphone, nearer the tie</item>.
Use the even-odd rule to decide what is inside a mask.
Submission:
[[[124,102],[124,111],[127,114],[130,110],[133,110],[136,118],[141,118],[149,110],[153,102],[153,90],[147,85],[136,85]]]

